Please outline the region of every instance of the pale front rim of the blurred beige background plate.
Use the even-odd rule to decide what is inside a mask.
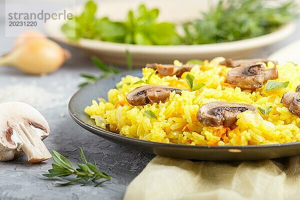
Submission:
[[[91,50],[106,50],[106,51],[114,51],[114,52],[124,52],[125,50],[129,50],[131,53],[157,53],[157,51],[162,52],[164,54],[173,54],[178,53],[180,50],[181,53],[190,53],[190,52],[201,52],[201,53],[213,53],[213,52],[221,52],[225,51],[237,51],[241,49],[251,49],[251,48],[259,48],[261,46],[269,45],[271,43],[275,43],[283,38],[286,38],[290,35],[296,27],[294,21],[283,24],[278,27],[276,30],[263,34],[256,37],[239,39],[235,41],[227,41],[227,42],[219,42],[219,43],[208,43],[208,44],[179,44],[179,45],[145,45],[145,44],[126,44],[126,43],[117,43],[117,42],[109,42],[109,41],[101,41],[97,39],[87,39],[81,38],[78,41],[70,41],[67,39],[65,35],[59,29],[60,36],[54,36],[56,33],[55,28],[52,28],[52,23],[49,21],[45,30],[47,34],[60,42],[77,46],[80,48],[91,49]],[[57,31],[57,30],[56,30]]]

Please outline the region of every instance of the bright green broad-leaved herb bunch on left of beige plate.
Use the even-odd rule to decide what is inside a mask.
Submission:
[[[132,44],[181,43],[173,23],[157,22],[157,8],[147,9],[141,4],[136,12],[129,10],[124,21],[112,21],[108,17],[96,18],[96,10],[96,3],[87,1],[82,13],[68,20],[61,30],[70,40],[84,37]]]

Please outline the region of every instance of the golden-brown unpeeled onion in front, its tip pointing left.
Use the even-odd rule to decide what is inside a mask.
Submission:
[[[49,39],[25,42],[0,59],[0,65],[13,65],[29,74],[44,74],[57,70],[68,58],[68,52]]]

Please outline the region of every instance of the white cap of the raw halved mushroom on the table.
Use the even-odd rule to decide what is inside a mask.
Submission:
[[[44,139],[50,134],[46,119],[34,107],[23,102],[0,103],[0,160],[20,155],[23,140],[18,132],[30,129]],[[26,135],[31,141],[33,138]]]

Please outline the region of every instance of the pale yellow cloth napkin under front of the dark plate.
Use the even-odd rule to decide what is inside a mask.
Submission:
[[[123,199],[300,199],[300,156],[230,162],[156,156]]]

